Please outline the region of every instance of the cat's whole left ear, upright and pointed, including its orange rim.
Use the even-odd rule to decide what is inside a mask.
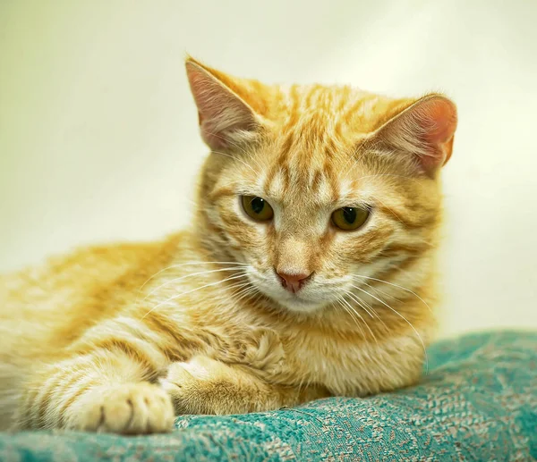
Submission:
[[[239,95],[234,79],[191,57],[185,66],[205,143],[217,150],[251,138],[259,128],[260,117]]]

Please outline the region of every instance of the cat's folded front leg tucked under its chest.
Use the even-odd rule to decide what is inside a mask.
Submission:
[[[266,382],[244,365],[228,365],[197,356],[168,368],[163,388],[172,397],[175,414],[244,414],[291,407],[328,396],[315,387]]]

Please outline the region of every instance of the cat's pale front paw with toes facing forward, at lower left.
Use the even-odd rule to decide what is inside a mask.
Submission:
[[[72,407],[67,426],[85,432],[170,432],[175,419],[169,395],[147,382],[99,387]]]

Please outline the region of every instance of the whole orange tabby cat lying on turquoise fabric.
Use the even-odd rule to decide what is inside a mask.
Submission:
[[[420,379],[456,105],[185,65],[192,226],[2,276],[4,428],[161,433]]]

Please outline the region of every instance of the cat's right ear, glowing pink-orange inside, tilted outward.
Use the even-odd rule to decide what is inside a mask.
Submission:
[[[456,120],[456,105],[451,100],[429,95],[399,105],[395,115],[372,133],[369,142],[376,150],[406,155],[405,160],[434,177],[451,157]]]

